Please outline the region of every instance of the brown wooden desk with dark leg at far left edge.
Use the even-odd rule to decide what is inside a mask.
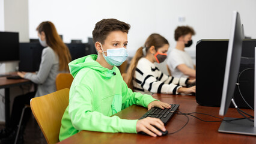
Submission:
[[[5,127],[10,125],[10,88],[30,83],[32,82],[27,79],[7,79],[6,77],[0,77],[0,89],[5,89]]]

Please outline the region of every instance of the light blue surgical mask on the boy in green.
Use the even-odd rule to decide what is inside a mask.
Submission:
[[[102,44],[100,44],[102,46]],[[105,52],[103,50],[103,57],[105,58],[106,62],[108,62],[109,65],[116,65],[120,66],[123,64],[124,61],[126,61],[126,58],[128,57],[127,49],[122,47],[122,48],[117,48],[117,49],[107,49],[105,52],[108,53],[108,56],[105,55]]]

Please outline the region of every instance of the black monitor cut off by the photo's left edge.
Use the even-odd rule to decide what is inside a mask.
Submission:
[[[0,61],[19,61],[18,32],[0,32]]]

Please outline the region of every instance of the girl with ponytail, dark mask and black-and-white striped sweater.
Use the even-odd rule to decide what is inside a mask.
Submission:
[[[128,87],[143,94],[190,94],[195,92],[195,86],[182,87],[195,83],[195,80],[166,76],[154,64],[154,62],[165,61],[168,49],[169,43],[164,37],[159,34],[151,34],[130,62],[126,77]]]

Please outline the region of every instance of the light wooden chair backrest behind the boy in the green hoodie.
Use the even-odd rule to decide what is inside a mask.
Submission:
[[[30,106],[47,143],[59,142],[61,119],[69,105],[69,89],[32,98]]]

